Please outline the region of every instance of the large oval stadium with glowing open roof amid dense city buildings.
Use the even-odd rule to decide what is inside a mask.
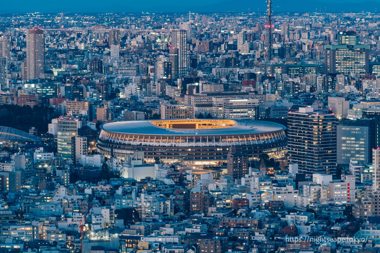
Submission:
[[[285,126],[267,121],[180,119],[121,121],[101,125],[98,151],[125,158],[144,152],[146,162],[181,161],[186,165],[220,165],[230,149],[256,160],[266,153],[275,160],[286,156]]]

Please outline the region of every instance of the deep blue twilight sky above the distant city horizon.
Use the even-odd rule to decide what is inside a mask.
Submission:
[[[273,0],[274,12],[380,12],[380,0]],[[82,1],[51,1],[51,0],[19,0],[3,1],[0,13],[89,13],[89,12],[224,12],[224,11],[263,12],[265,0],[191,0],[191,1],[157,1],[157,0],[82,0]]]

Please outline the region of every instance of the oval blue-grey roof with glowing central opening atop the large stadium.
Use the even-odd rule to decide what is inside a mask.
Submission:
[[[251,119],[162,119],[112,122],[101,125],[101,129],[141,135],[229,135],[268,133],[285,130],[286,127]]]

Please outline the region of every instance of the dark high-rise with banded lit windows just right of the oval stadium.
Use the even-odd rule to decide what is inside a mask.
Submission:
[[[301,173],[336,174],[336,118],[315,109],[288,113],[288,160]]]

